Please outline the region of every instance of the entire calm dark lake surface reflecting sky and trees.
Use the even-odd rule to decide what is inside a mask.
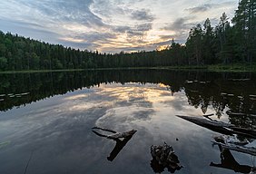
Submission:
[[[0,173],[154,173],[150,147],[164,141],[183,167],[175,173],[249,173],[255,157],[231,150],[221,159],[211,141],[219,133],[175,115],[213,113],[255,130],[255,89],[255,73],[0,74]],[[117,144],[94,126],[137,132]]]

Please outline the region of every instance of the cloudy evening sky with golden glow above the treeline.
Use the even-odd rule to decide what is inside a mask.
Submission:
[[[185,43],[195,24],[212,26],[239,0],[1,0],[0,30],[75,49],[120,53]]]

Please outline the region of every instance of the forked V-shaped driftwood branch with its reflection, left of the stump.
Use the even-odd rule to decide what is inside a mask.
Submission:
[[[132,139],[133,134],[136,132],[135,130],[132,131],[124,131],[124,132],[116,132],[113,130],[103,129],[99,127],[92,128],[93,130],[101,130],[101,131],[108,131],[113,134],[111,135],[104,135],[102,133],[99,133],[97,131],[93,131],[96,135],[100,137],[104,137],[109,140],[114,140],[116,142],[113,150],[111,151],[109,157],[107,157],[107,160],[113,161],[115,157],[119,154],[121,150],[123,150],[123,147],[127,144],[129,140]],[[123,139],[123,140],[121,140]]]

